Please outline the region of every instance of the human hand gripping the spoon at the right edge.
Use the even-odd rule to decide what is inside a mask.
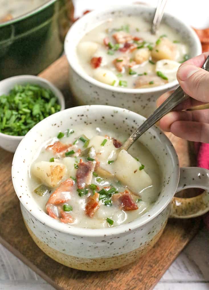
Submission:
[[[209,72],[201,66],[208,57],[205,52],[184,62],[177,71],[181,88],[191,98],[179,104],[175,111],[166,114],[160,120],[162,130],[189,140],[209,143],[209,109],[187,111],[188,108],[209,103]],[[170,93],[165,93],[157,100],[160,106]]]

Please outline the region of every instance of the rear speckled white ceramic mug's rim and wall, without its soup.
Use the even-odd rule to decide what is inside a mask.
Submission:
[[[132,110],[138,114],[148,117],[156,106],[157,98],[168,90],[177,87],[178,81],[172,81],[163,86],[153,88],[120,88],[103,84],[93,79],[82,69],[79,64],[76,46],[82,37],[98,26],[103,21],[112,17],[143,17],[146,21],[152,21],[155,8],[129,5],[102,7],[80,18],[67,33],[65,38],[65,54],[69,62],[69,83],[71,91],[79,105],[110,105]],[[162,21],[182,35],[184,41],[190,48],[190,56],[201,54],[202,48],[194,30],[181,20],[165,13]],[[73,43],[73,45],[72,45]]]

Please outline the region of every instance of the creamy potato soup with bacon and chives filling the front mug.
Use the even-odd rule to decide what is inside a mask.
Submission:
[[[160,169],[139,142],[121,150],[126,135],[75,126],[48,140],[30,169],[31,189],[49,216],[81,228],[131,222],[154,204]],[[120,137],[119,137],[120,136]]]

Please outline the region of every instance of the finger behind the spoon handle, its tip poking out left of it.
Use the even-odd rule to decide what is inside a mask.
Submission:
[[[159,107],[173,92],[166,92],[157,99],[157,107]],[[186,110],[194,106],[203,105],[205,103],[189,98],[175,107],[175,111]]]

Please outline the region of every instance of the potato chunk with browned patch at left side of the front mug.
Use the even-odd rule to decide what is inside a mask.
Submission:
[[[34,164],[32,174],[45,185],[55,187],[65,177],[66,166],[58,162],[40,161]]]

